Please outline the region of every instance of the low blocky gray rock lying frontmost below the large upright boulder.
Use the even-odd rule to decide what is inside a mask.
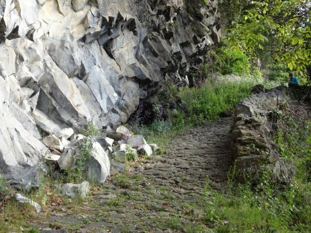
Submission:
[[[62,194],[70,196],[73,199],[82,198],[85,199],[90,192],[90,184],[87,181],[81,184],[66,183],[62,187]]]

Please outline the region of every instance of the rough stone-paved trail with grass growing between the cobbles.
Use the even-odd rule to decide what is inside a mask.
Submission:
[[[225,188],[231,123],[220,119],[176,137],[165,154],[130,165],[90,199],[55,205],[32,224],[68,232],[208,232],[197,206],[207,176],[211,188]]]

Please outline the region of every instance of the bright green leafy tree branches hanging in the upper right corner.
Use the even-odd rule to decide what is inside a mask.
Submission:
[[[225,4],[236,4],[235,11],[231,9],[234,16],[228,34],[234,45],[243,48],[250,57],[261,58],[267,54],[290,70],[310,70],[311,4],[308,1],[228,2]]]

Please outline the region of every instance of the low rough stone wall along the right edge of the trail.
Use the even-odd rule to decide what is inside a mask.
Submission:
[[[286,92],[287,88],[282,86],[267,92],[259,91],[243,99],[236,107],[232,152],[239,182],[247,180],[256,185],[264,171],[280,185],[287,185],[292,180],[292,164],[282,161],[270,138],[269,116],[286,103],[289,98]]]

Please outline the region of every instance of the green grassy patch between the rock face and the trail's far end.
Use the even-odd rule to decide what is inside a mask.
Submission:
[[[233,82],[230,80],[216,83],[205,83],[202,88],[171,88],[172,96],[178,95],[187,103],[189,112],[182,110],[171,112],[167,109],[167,121],[156,120],[150,125],[129,122],[129,129],[135,134],[142,134],[149,143],[156,143],[160,148],[166,148],[171,139],[194,125],[218,118],[220,112],[232,110],[241,99],[249,96],[250,88],[255,81]],[[161,151],[163,152],[163,151]]]

